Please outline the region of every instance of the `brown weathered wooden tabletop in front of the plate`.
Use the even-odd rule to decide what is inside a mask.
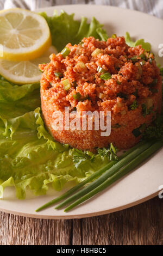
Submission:
[[[81,220],[0,213],[0,245],[163,245],[163,199]]]

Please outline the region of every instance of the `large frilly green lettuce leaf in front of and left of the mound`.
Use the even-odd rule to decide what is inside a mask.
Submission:
[[[48,185],[61,190],[68,181],[80,182],[105,165],[96,155],[78,166],[75,149],[53,141],[40,113],[40,84],[16,86],[0,80],[0,197],[14,186],[18,199],[30,188],[38,196]],[[92,153],[90,153],[92,154]]]

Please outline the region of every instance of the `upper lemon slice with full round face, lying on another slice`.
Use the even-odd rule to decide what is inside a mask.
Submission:
[[[19,8],[0,11],[0,35],[0,58],[12,61],[40,57],[52,43],[46,20]]]

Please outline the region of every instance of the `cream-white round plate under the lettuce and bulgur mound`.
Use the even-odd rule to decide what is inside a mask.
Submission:
[[[113,33],[124,35],[128,31],[135,39],[143,38],[151,42],[156,59],[163,65],[163,57],[158,56],[159,44],[163,43],[163,20],[138,11],[100,5],[61,5],[37,11],[46,11],[48,15],[52,15],[54,9],[58,11],[63,9],[68,14],[75,13],[76,19],[85,16],[90,20],[92,16],[95,16],[105,25],[109,35]],[[62,192],[50,191],[46,196],[28,196],[26,200],[20,201],[13,196],[15,191],[12,188],[8,188],[5,191],[4,199],[0,200],[0,210],[35,218],[66,219],[90,217],[126,209],[158,195],[159,187],[163,185],[162,153],[163,149],[134,172],[68,213],[63,210],[54,210],[53,207],[42,212],[35,212],[39,206]]]

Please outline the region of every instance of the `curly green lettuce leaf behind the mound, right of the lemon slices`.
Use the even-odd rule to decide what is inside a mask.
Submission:
[[[80,21],[74,20],[74,14],[68,15],[61,10],[60,15],[57,11],[53,17],[48,17],[46,13],[41,15],[48,22],[52,34],[53,45],[60,52],[68,42],[72,45],[79,44],[84,37],[95,36],[99,40],[107,40],[108,35],[102,29],[101,25],[95,17],[92,17],[91,23],[87,23],[87,18],[82,17]]]

